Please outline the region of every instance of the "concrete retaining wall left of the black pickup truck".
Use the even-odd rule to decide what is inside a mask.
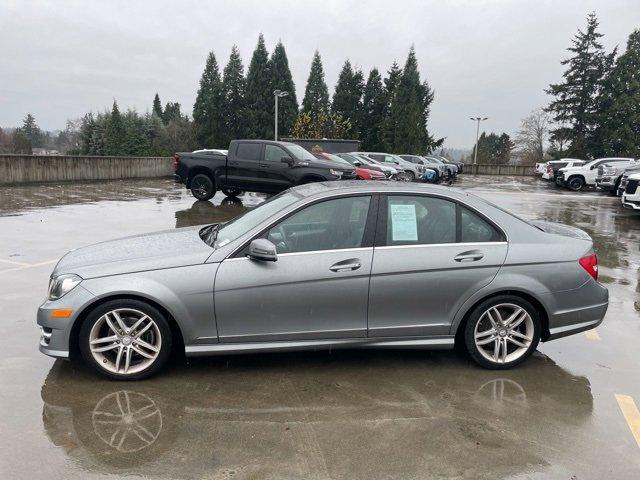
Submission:
[[[171,157],[0,155],[0,184],[114,180],[173,175]]]

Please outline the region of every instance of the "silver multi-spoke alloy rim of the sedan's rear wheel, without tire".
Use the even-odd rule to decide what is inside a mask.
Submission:
[[[518,360],[533,342],[535,327],[523,307],[501,303],[488,308],[478,319],[474,340],[478,352],[492,363]]]

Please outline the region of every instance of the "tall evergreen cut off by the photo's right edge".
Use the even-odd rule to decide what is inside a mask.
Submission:
[[[640,158],[640,30],[627,40],[605,82],[603,155]]]

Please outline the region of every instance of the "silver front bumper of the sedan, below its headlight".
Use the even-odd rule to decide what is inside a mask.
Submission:
[[[38,308],[37,315],[40,326],[39,350],[50,357],[69,358],[73,324],[94,299],[95,296],[80,284],[58,300],[45,300]],[[53,318],[52,311],[60,308],[70,308],[73,313],[68,318]]]

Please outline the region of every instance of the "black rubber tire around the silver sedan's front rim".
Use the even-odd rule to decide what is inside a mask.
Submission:
[[[127,374],[112,372],[103,367],[103,365],[99,363],[91,353],[89,336],[93,326],[102,318],[104,314],[117,309],[132,309],[142,312],[151,320],[153,320],[155,325],[158,327],[158,331],[160,332],[160,350],[155,357],[155,360],[153,360],[151,364],[149,364],[141,371]],[[87,365],[89,365],[101,375],[104,375],[111,380],[143,380],[158,372],[167,362],[167,359],[171,354],[171,328],[169,327],[169,323],[167,322],[167,319],[164,317],[164,315],[160,311],[158,311],[157,308],[149,305],[146,302],[127,299],[111,300],[103,303],[89,313],[85,321],[82,323],[82,326],[80,327],[78,344],[80,346],[80,352],[84,361],[87,363]]]

